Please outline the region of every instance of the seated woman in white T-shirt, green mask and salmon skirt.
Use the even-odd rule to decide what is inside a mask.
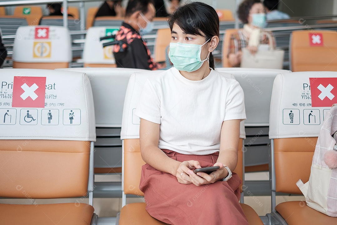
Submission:
[[[146,210],[166,224],[248,225],[239,203],[241,180],[231,172],[246,118],[244,96],[236,80],[215,71],[219,16],[212,6],[192,2],[168,24],[174,67],[146,80],[135,111]],[[209,166],[219,169],[192,171]]]

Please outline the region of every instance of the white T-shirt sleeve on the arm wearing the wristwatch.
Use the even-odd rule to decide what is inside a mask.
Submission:
[[[237,81],[229,88],[223,121],[232,119],[246,119],[244,94]]]

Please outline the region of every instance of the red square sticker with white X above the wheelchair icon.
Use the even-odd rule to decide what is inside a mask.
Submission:
[[[12,107],[44,108],[45,77],[14,77]]]

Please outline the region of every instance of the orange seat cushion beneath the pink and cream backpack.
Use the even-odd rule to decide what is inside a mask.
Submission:
[[[305,201],[287,201],[278,204],[275,210],[288,225],[337,224],[336,217],[329,217],[307,206]]]

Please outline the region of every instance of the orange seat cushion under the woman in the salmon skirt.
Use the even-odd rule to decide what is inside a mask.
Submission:
[[[261,219],[249,205],[241,204],[250,225],[263,225]],[[145,203],[130,203],[125,205],[119,217],[119,225],[166,225],[151,217],[145,209]]]

